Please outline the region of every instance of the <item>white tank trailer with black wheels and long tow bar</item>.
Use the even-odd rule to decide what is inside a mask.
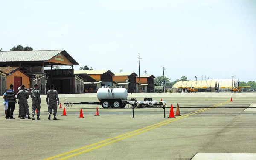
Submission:
[[[102,87],[97,91],[97,98],[99,102],[79,102],[71,103],[66,102],[66,107],[72,104],[94,104],[102,105],[102,108],[124,108],[126,104],[129,104],[127,100],[128,93],[125,88],[114,88],[114,87]]]

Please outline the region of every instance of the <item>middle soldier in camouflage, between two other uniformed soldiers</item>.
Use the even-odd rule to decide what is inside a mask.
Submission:
[[[40,98],[40,93],[38,90],[38,85],[34,85],[34,89],[31,91],[30,97],[32,98],[32,120],[35,120],[35,109],[37,109],[37,120],[40,120],[39,115],[40,115],[40,104],[41,104],[41,98]]]

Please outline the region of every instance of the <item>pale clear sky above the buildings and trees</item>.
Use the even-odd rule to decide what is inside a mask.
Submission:
[[[256,81],[256,0],[1,0],[0,48],[112,72]],[[204,78],[205,79],[205,78]]]

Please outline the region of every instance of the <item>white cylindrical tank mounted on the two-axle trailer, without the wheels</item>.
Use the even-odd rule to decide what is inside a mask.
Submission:
[[[128,93],[126,88],[99,88],[97,98],[102,99],[127,99]]]

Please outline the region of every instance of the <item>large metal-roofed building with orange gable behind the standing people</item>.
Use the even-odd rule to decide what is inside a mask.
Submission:
[[[8,77],[11,78],[10,75],[13,75],[15,90],[20,84],[28,88],[40,84],[41,94],[45,94],[50,85],[55,84],[58,93],[83,93],[84,81],[97,81],[90,76],[74,75],[74,65],[79,64],[65,50],[0,52],[0,67],[3,67],[0,74],[4,77],[0,81],[1,90],[4,90],[3,87],[8,88],[4,79],[9,79]],[[69,66],[70,69],[56,69],[56,66]]]

